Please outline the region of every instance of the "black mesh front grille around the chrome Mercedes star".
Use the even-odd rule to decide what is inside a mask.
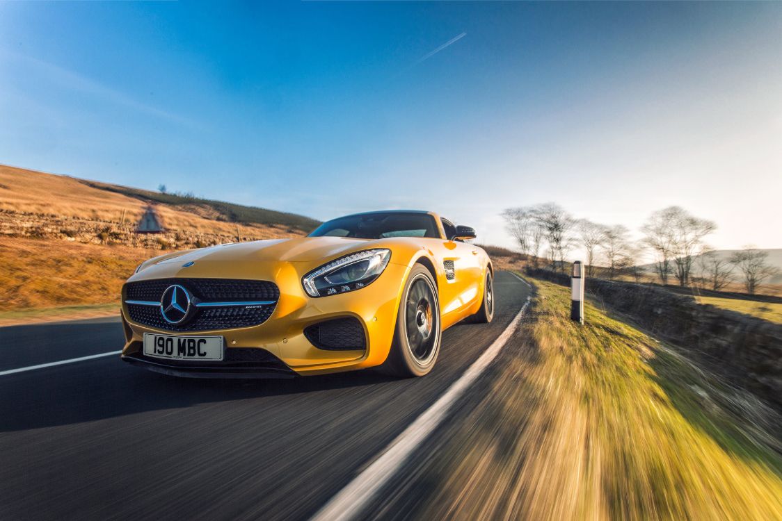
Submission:
[[[124,299],[160,302],[163,292],[172,284],[185,287],[197,302],[271,301],[269,305],[220,306],[196,308],[192,318],[172,324],[163,319],[159,305],[127,304],[127,312],[135,323],[169,331],[206,331],[252,327],[269,319],[277,305],[280,291],[267,280],[234,279],[157,279],[125,284]]]

